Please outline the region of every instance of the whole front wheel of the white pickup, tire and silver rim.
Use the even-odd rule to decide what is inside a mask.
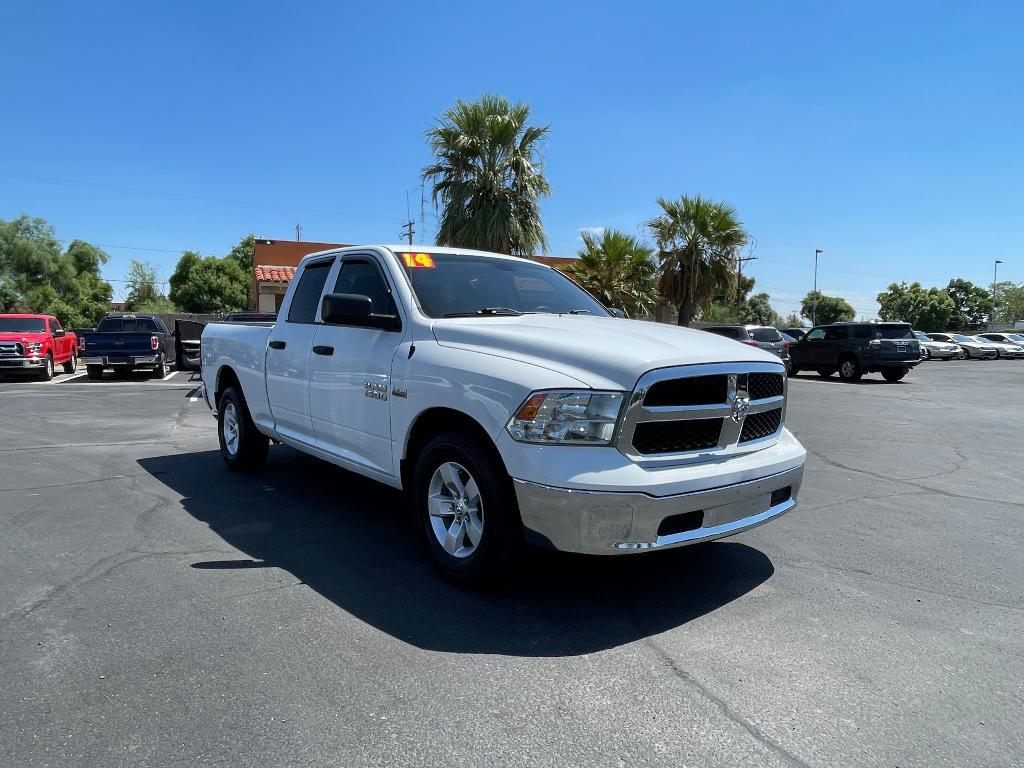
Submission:
[[[416,463],[413,505],[427,553],[446,579],[482,586],[517,561],[522,524],[493,446],[462,432],[432,439]]]

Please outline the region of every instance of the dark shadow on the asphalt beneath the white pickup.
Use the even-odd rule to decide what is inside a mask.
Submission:
[[[282,568],[425,649],[590,653],[685,625],[774,572],[758,550],[718,542],[621,558],[531,553],[513,586],[466,591],[427,562],[401,494],[291,449],[273,449],[255,475],[229,472],[215,451],[138,463],[245,555],[193,567]]]

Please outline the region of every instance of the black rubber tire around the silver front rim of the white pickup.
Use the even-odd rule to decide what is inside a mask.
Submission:
[[[463,497],[466,506],[462,514],[466,515],[467,526],[460,528],[465,532],[459,534],[458,546],[462,551],[471,547],[471,551],[462,556],[445,550],[439,539],[441,534],[435,532],[434,527],[437,521],[439,531],[450,532],[458,524],[456,503],[449,507],[453,510],[451,522],[447,515],[430,514],[428,497],[435,473],[440,490],[456,497],[442,479],[441,468],[445,465],[450,468],[458,465],[466,472],[465,476],[460,473],[460,483],[468,487],[472,478],[478,489],[476,505],[468,493]],[[445,579],[462,586],[483,587],[506,581],[514,571],[523,549],[522,522],[512,481],[493,445],[463,432],[446,432],[432,439],[416,461],[412,506],[420,539],[434,567]],[[469,521],[474,519],[473,510],[478,510],[475,519],[480,521],[481,530],[475,545],[468,530]]]

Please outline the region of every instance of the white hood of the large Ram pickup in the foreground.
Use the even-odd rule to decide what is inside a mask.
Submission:
[[[631,390],[648,371],[698,362],[774,362],[770,352],[690,328],[572,314],[453,317],[433,324],[441,346],[560,371],[594,389]]]

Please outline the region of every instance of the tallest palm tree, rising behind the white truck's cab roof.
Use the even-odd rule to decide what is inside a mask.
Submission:
[[[548,126],[526,125],[529,106],[502,96],[457,100],[427,130],[435,162],[423,169],[441,205],[437,243],[531,256],[547,248],[541,198],[551,195],[540,143]]]

